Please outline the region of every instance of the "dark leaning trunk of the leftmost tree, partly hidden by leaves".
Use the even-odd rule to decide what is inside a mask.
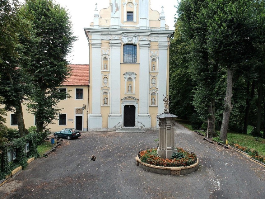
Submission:
[[[8,68],[5,68],[5,69],[6,69],[7,77],[9,78],[11,85],[14,85],[9,69]],[[28,134],[28,130],[25,127],[21,102],[19,102],[19,104],[17,104],[15,108],[16,108],[15,116],[17,118],[19,135],[20,137],[24,137],[25,135]]]

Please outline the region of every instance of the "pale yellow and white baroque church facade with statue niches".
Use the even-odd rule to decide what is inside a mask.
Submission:
[[[84,28],[89,41],[88,130],[158,128],[169,87],[173,31],[151,0],[110,0]]]

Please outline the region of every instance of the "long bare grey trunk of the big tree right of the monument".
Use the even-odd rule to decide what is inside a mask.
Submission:
[[[230,67],[227,67],[227,83],[226,83],[226,94],[225,94],[225,108],[223,112],[223,120],[221,125],[221,132],[220,132],[220,138],[222,141],[225,141],[227,139],[227,130],[228,130],[228,124],[229,124],[229,117],[230,112],[233,108],[233,105],[231,104],[232,99],[232,88],[233,88],[233,75],[234,70],[230,69]]]

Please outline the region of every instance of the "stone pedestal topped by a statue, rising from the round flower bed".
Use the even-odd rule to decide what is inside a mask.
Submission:
[[[171,155],[178,150],[175,147],[175,134],[174,119],[177,117],[169,113],[169,101],[168,98],[164,95],[164,113],[157,115],[159,122],[158,129],[158,149],[157,154],[163,159],[171,159]]]

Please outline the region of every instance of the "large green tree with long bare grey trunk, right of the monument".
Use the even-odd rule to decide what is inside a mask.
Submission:
[[[243,72],[251,69],[249,60],[252,57],[252,33],[256,23],[253,18],[253,4],[248,0],[233,2],[218,0],[209,4],[208,9],[214,14],[207,20],[209,30],[207,48],[219,67],[227,70],[225,106],[220,133],[221,140],[225,141],[233,108],[232,87]]]

